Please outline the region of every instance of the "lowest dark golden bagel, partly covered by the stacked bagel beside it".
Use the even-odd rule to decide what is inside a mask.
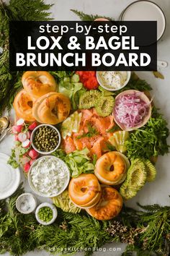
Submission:
[[[122,197],[116,189],[102,185],[99,202],[94,207],[86,209],[86,212],[99,221],[108,221],[120,213],[122,202]]]

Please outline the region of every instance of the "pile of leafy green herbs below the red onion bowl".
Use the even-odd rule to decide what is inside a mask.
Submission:
[[[167,122],[156,108],[148,123],[130,133],[130,139],[125,142],[128,158],[148,158],[169,153],[167,137],[169,129]]]

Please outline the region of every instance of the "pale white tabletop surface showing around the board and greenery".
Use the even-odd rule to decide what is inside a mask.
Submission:
[[[78,9],[88,14],[101,14],[113,17],[115,20],[119,17],[122,9],[128,6],[133,0],[45,0],[45,2],[54,4],[51,8],[52,17],[54,20],[79,20],[70,9]],[[158,42],[158,59],[168,61],[170,67],[170,1],[169,0],[153,0],[158,4],[166,14],[166,32],[163,38]],[[170,68],[160,69],[164,74],[164,80],[158,80],[153,77],[151,72],[138,72],[138,75],[151,83],[153,87],[152,95],[154,95],[154,103],[158,108],[161,108],[161,112],[164,113],[167,121],[170,124]],[[160,131],[161,132],[161,131]],[[13,137],[9,136],[1,142],[0,152],[9,154],[12,148]],[[170,144],[170,138],[168,140]],[[156,163],[158,175],[156,180],[152,183],[148,183],[143,189],[138,192],[138,195],[132,200],[127,202],[130,207],[136,208],[136,202],[140,204],[153,204],[158,203],[160,205],[170,205],[169,195],[169,179],[170,179],[170,158],[169,155],[159,157]],[[27,187],[27,184],[25,184]],[[27,187],[27,191],[29,188]],[[111,249],[109,249],[111,248]],[[107,244],[102,251],[94,252],[95,256],[98,255],[115,255],[120,256],[125,248],[124,244]],[[121,249],[121,250],[120,250]],[[45,251],[28,252],[27,256],[48,256],[49,253]],[[81,255],[81,254],[78,254]],[[9,256],[6,253],[4,256]]]

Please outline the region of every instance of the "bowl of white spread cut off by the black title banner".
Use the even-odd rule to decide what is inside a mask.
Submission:
[[[105,90],[120,90],[128,84],[130,71],[97,71],[97,81]]]

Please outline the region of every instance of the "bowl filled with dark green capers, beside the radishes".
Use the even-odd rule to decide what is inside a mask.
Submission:
[[[61,134],[51,124],[40,124],[31,135],[32,148],[42,155],[53,153],[61,144]]]

